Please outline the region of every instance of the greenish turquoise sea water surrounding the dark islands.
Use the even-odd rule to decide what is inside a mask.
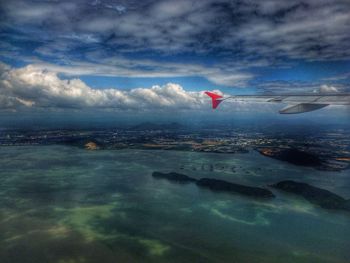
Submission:
[[[350,198],[349,170],[255,152],[30,146],[1,147],[0,156],[1,262],[350,262],[350,214],[275,190],[274,200],[257,201],[151,176],[293,179]]]

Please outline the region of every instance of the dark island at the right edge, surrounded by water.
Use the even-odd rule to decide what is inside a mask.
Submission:
[[[322,208],[350,211],[349,200],[346,200],[343,197],[328,190],[321,189],[306,183],[286,180],[273,184],[272,187],[302,196],[310,203],[316,204]]]

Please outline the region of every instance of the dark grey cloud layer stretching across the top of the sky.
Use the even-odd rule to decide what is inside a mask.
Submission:
[[[41,42],[38,52],[54,53],[55,45],[74,51],[100,44],[118,52],[215,53],[237,59],[350,56],[347,0],[13,0],[2,1],[1,10],[1,29],[35,37]]]

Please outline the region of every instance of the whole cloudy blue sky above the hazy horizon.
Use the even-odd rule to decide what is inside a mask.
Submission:
[[[0,0],[1,116],[206,112],[206,90],[349,92],[349,83],[348,0]],[[272,112],[223,107],[257,109]]]

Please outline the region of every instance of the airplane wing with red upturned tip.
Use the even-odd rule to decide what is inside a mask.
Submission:
[[[205,92],[216,109],[221,102],[227,99],[247,102],[285,103],[287,107],[281,109],[281,114],[297,114],[318,110],[328,105],[350,105],[350,93],[332,94],[283,94],[283,95],[237,95],[223,97],[213,92]]]

